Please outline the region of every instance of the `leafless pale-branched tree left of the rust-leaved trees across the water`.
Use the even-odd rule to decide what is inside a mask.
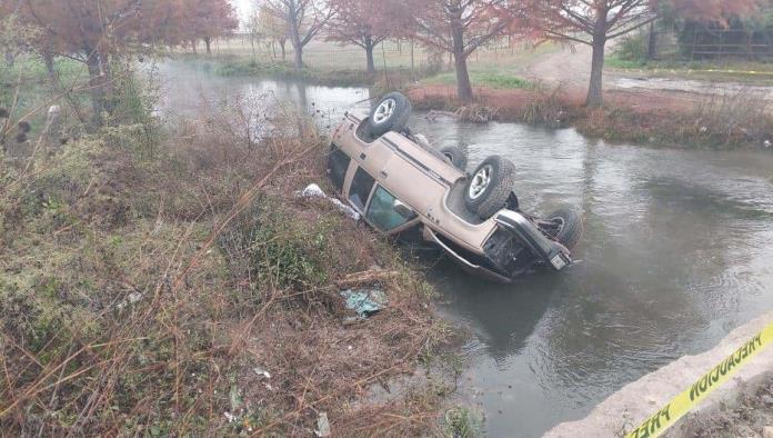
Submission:
[[[295,51],[295,70],[303,68],[303,48],[334,16],[334,9],[321,0],[265,0],[265,10],[288,23]]]

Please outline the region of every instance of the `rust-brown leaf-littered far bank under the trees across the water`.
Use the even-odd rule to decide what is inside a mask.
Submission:
[[[483,112],[492,120],[573,126],[585,136],[611,142],[733,149],[766,148],[773,141],[769,106],[744,92],[706,97],[606,91],[606,104],[601,109],[585,108],[578,92],[546,84],[510,90],[478,87],[473,106],[466,107],[450,86],[415,86],[408,93],[414,108],[422,110],[462,116]]]

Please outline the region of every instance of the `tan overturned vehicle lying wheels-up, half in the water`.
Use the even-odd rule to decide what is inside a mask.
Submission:
[[[371,227],[400,241],[431,242],[496,281],[572,263],[582,233],[576,211],[544,218],[521,211],[511,161],[492,156],[469,175],[458,148],[434,149],[410,131],[410,115],[408,98],[393,92],[365,119],[347,113],[333,133],[330,178]]]

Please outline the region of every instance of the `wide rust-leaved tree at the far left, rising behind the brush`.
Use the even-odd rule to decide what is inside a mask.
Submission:
[[[30,41],[51,64],[54,56],[86,63],[92,122],[110,110],[111,59],[215,38],[235,28],[228,0],[16,0],[16,13],[38,30]]]

